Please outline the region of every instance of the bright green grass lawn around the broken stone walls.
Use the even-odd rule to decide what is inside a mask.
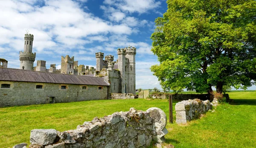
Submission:
[[[229,94],[234,99],[232,104],[220,105],[200,120],[186,125],[168,123],[166,143],[175,148],[255,147],[256,92]],[[35,128],[75,129],[95,116],[104,117],[115,111],[128,111],[131,107],[143,111],[158,107],[168,116],[168,100],[97,100],[0,108],[0,148],[29,143],[30,130]]]

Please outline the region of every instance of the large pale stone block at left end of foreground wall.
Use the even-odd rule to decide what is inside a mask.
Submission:
[[[52,144],[57,136],[55,129],[34,129],[30,133],[30,143],[32,145]]]

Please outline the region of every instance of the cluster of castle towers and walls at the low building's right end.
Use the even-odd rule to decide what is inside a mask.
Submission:
[[[96,53],[96,76],[105,76],[110,84],[111,93],[131,93],[136,94],[135,77],[135,47],[125,47],[117,49],[118,60],[113,61],[114,57],[108,55],[103,60],[104,53]],[[105,71],[107,71],[105,73]],[[105,74],[105,75],[104,75]]]

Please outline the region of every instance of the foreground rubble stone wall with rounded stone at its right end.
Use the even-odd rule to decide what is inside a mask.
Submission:
[[[160,108],[116,112],[70,131],[34,129],[29,148],[145,148],[163,142],[166,114]]]

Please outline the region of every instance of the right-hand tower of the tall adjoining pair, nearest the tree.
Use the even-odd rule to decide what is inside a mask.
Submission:
[[[126,85],[127,92],[135,94],[136,93],[136,81],[135,81],[135,55],[136,48],[128,46],[124,48],[126,54],[125,58],[127,58],[128,64],[126,66]]]

